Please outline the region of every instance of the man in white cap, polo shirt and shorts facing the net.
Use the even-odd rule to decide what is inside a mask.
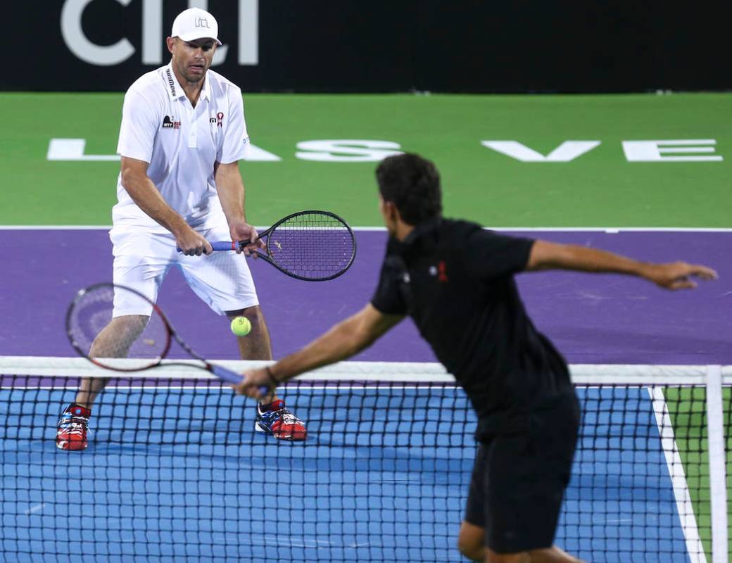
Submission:
[[[209,240],[251,240],[263,246],[244,214],[239,160],[249,150],[241,90],[209,70],[218,24],[190,8],[173,22],[171,62],[147,72],[124,96],[117,152],[122,158],[113,207],[114,283],[153,302],[171,266],[220,315],[246,316],[252,331],[239,337],[244,359],[272,359],[272,347],[252,275],[243,256],[212,253]],[[176,247],[182,253],[176,251]],[[203,255],[203,256],[202,256]],[[124,343],[141,333],[149,310],[115,296],[113,318],[91,346],[92,357],[124,357]],[[107,379],[84,379],[75,402],[61,414],[56,445],[86,448],[91,407]],[[258,405],[256,430],[302,440],[302,420],[269,395]]]

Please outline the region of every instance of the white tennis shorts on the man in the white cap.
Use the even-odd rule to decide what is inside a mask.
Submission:
[[[208,241],[231,240],[228,227],[198,231]],[[214,312],[224,315],[259,305],[254,280],[243,254],[215,252],[208,256],[184,256],[176,250],[173,234],[154,234],[130,228],[113,228],[109,233],[113,245],[114,283],[136,289],[152,302],[171,267],[178,267],[188,286]],[[142,310],[140,299],[125,302],[114,297],[112,316],[149,315]]]

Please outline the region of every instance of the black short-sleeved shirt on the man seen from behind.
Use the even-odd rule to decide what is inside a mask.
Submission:
[[[389,239],[371,303],[409,315],[478,414],[477,439],[525,430],[528,415],[572,393],[567,362],[526,315],[513,275],[532,239],[440,219]]]

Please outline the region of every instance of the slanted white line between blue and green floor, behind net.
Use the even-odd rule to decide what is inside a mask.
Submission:
[[[679,512],[681,529],[686,538],[687,553],[691,563],[707,563],[704,546],[699,537],[699,528],[694,515],[694,506],[689,494],[689,484],[684,474],[684,465],[681,463],[679,447],[676,445],[676,437],[673,434],[671,414],[668,412],[663,390],[661,387],[646,387],[648,394],[653,401],[653,414],[656,417],[658,433],[661,436],[663,455],[668,465],[668,474],[671,476],[673,485],[673,497],[676,499],[676,510]]]

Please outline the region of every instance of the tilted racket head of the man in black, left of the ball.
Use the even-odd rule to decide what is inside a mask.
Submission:
[[[111,324],[115,305],[116,320]],[[135,289],[113,283],[81,289],[66,313],[72,348],[110,370],[139,371],[160,365],[171,348],[172,332],[154,302]]]

